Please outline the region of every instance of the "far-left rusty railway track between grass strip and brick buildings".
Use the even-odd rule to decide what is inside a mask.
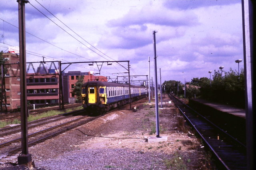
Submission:
[[[81,106],[81,104],[72,104],[72,105],[66,105],[65,109],[68,108],[72,108],[72,107],[78,107]],[[39,113],[43,113],[45,111],[49,111],[49,110],[58,110],[59,107],[58,106],[54,106],[54,107],[46,107],[46,108],[42,108],[42,109],[36,109],[36,110],[30,110],[29,114],[30,115],[35,115],[35,114],[39,114]],[[11,121],[14,119],[18,119],[20,117],[20,112],[15,112],[15,113],[1,113],[0,114],[0,121]]]

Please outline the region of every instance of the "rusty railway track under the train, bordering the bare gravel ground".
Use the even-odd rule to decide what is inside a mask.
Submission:
[[[84,110],[82,109],[79,111],[74,111],[72,114],[80,114],[83,112]],[[64,123],[59,123],[58,125],[54,125],[46,129],[36,131],[34,133],[30,133],[28,135],[28,146],[31,147],[32,145],[36,145],[37,143],[45,141],[46,139],[50,139],[56,135],[64,133],[65,131],[68,131],[70,129],[83,125],[85,123],[88,123],[98,117],[100,116],[97,116],[97,117],[78,116],[78,118],[75,118],[73,120],[65,121]],[[10,140],[5,141],[4,143],[1,143],[0,159],[8,155],[19,152],[21,150],[20,140],[21,140],[20,137],[15,139],[13,139],[13,137],[10,137]]]

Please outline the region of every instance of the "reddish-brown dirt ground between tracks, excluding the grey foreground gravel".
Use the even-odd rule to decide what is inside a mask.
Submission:
[[[153,157],[154,154],[163,156],[156,158],[161,162],[161,168],[155,166],[148,169],[214,169],[210,154],[200,140],[195,137],[192,129],[186,125],[186,121],[174,104],[169,103],[167,97],[163,98],[163,108],[161,105],[159,106],[160,136],[168,137],[167,141],[149,143],[147,140],[148,137],[156,136],[154,100],[148,103],[148,100],[142,99],[132,104],[132,108],[135,106],[137,107],[136,111],[127,105],[86,125],[31,147],[29,152],[32,154],[36,169],[53,169],[50,168],[50,165],[46,165],[47,162],[70,152],[101,149],[108,149],[108,152],[111,152],[109,150],[126,149],[139,154],[151,154]],[[15,162],[15,158],[10,159],[9,163],[0,165],[0,169],[1,167],[3,169],[14,168],[13,163]],[[136,162],[136,164],[143,164],[143,162]],[[80,169],[79,167],[81,166],[77,166],[75,169]],[[126,166],[125,163],[118,166],[106,166],[105,164],[104,167],[95,169],[123,169],[122,167],[126,167],[124,169],[142,169],[135,164]],[[66,167],[66,169],[71,168]]]

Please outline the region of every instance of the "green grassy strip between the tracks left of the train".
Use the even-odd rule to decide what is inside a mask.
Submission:
[[[36,115],[29,115],[28,122],[42,119],[44,117],[50,117],[50,116],[54,116],[54,115],[63,114],[63,113],[70,112],[73,110],[79,110],[79,109],[82,109],[82,106],[71,108],[71,109],[66,109],[65,111],[50,110],[50,111],[46,111],[44,113],[40,113],[40,114],[36,114]],[[14,119],[12,121],[0,121],[0,128],[6,127],[7,125],[11,125],[11,124],[20,124],[20,120]]]

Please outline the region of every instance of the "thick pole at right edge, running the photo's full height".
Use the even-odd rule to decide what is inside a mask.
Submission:
[[[247,169],[256,169],[256,113],[255,110],[255,1],[242,0],[243,44],[244,44],[244,75],[246,105],[246,154]]]

